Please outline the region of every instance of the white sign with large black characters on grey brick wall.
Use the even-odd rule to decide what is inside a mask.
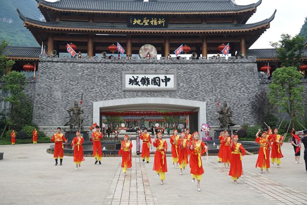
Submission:
[[[123,72],[123,91],[131,90],[177,90],[176,72]]]

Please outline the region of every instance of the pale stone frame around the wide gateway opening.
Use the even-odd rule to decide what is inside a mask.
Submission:
[[[197,111],[189,116],[189,127],[200,131],[199,123],[206,123],[206,102],[163,97],[138,97],[93,102],[93,122],[101,121],[101,111],[173,110]]]

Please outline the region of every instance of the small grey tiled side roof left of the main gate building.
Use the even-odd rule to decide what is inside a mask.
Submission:
[[[38,58],[40,55],[39,47],[12,47],[5,48],[3,54],[7,57],[31,57]]]

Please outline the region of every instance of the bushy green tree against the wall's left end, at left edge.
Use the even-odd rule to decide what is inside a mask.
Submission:
[[[9,125],[9,129],[14,126],[16,130],[19,130],[21,127],[31,124],[33,107],[24,92],[26,76],[13,71],[3,76],[2,82],[1,89],[4,92],[4,101],[10,103],[6,117],[6,124]]]

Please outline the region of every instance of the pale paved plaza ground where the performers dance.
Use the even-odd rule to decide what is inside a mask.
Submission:
[[[180,175],[171,157],[160,185],[152,171],[153,155],[149,163],[133,157],[124,176],[120,157],[103,158],[102,165],[86,157],[76,171],[73,157],[64,156],[63,166],[54,166],[53,155],[46,152],[50,145],[0,146],[0,204],[307,204],[307,173],[304,164],[295,164],[289,143],[282,147],[281,168],[272,167],[269,174],[255,168],[257,155],[244,156],[244,176],[237,185],[216,156],[202,157],[201,192],[189,168]]]

